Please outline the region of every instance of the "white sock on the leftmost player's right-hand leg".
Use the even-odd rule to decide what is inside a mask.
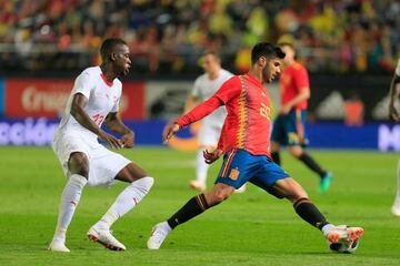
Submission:
[[[138,205],[138,203],[149,193],[153,183],[154,180],[150,176],[142,177],[131,183],[118,195],[116,202],[94,226],[109,229],[119,217],[123,216]]]

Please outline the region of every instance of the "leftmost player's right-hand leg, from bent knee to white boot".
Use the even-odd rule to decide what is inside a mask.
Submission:
[[[116,176],[116,180],[130,183],[117,197],[116,202],[88,232],[88,236],[111,250],[124,250],[126,247],[110,232],[112,224],[149,193],[153,178],[134,163],[129,163]]]

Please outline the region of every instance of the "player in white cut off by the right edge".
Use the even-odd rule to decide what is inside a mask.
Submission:
[[[393,79],[390,83],[390,101],[389,101],[389,115],[394,122],[400,122],[400,111],[397,109],[397,103],[400,99],[400,58],[393,74]],[[400,217],[400,160],[397,168],[398,186],[394,203],[391,207],[391,212],[394,216]]]

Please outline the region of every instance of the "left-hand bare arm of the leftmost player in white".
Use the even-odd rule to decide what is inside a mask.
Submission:
[[[82,93],[76,93],[71,103],[71,115],[78,121],[80,125],[97,134],[101,140],[110,144],[111,147],[121,149],[121,141],[101,130],[84,111],[84,108],[88,105],[88,98],[86,98]]]

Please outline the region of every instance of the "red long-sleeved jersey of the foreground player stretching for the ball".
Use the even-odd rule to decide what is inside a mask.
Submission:
[[[226,105],[224,120],[218,149],[229,152],[243,149],[253,155],[269,155],[271,129],[270,98],[254,76],[234,75],[206,102],[178,119],[179,126],[191,124],[221,105]]]

